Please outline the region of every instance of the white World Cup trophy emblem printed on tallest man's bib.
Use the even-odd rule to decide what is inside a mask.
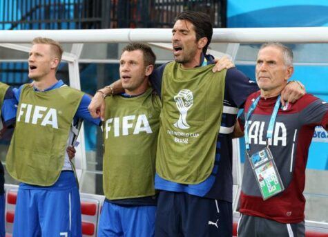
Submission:
[[[175,95],[174,100],[180,112],[180,117],[173,125],[178,129],[189,129],[190,126],[186,122],[186,114],[189,108],[193,106],[193,93],[188,89],[183,89]]]

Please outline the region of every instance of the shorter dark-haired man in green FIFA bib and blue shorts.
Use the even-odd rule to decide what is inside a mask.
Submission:
[[[160,97],[149,86],[153,50],[128,44],[119,59],[124,93],[106,97],[104,193],[98,236],[154,236],[154,188]],[[122,148],[117,149],[117,147]]]

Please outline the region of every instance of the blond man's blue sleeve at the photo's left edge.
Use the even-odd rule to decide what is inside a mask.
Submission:
[[[1,116],[3,119],[3,124],[5,126],[10,126],[16,121],[17,113],[17,101],[14,97],[12,87],[9,87],[6,91],[5,97],[3,99],[3,104],[1,107]]]

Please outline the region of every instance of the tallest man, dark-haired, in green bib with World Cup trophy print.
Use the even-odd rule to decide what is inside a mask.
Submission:
[[[175,61],[152,77],[163,104],[156,236],[231,236],[231,133],[238,108],[257,86],[235,68],[212,72],[213,57],[204,51],[213,29],[204,13],[182,12],[172,33]]]

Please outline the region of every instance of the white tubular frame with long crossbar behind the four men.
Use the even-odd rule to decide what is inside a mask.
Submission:
[[[90,44],[100,46],[101,44],[126,44],[133,41],[140,41],[148,43],[157,50],[155,53],[157,56],[160,56],[160,59],[157,60],[157,62],[165,62],[172,60],[172,54],[169,52],[172,50],[171,35],[172,32],[169,28],[102,30],[0,30],[0,63],[1,61],[27,61],[28,58],[28,55],[26,54],[26,58],[24,58],[23,55],[15,58],[10,58],[10,55],[6,55],[6,59],[1,59],[1,48],[28,52],[32,39],[35,37],[49,37],[59,41],[62,44],[70,45],[70,47],[68,47],[69,50],[64,52],[63,60],[68,63],[70,86],[81,89],[79,64],[86,62],[95,64],[117,64],[119,62],[119,56],[116,58],[108,57],[102,59],[82,57],[83,50],[90,46]],[[268,41],[279,41],[288,44],[325,44],[328,43],[328,28],[215,28],[213,29],[213,38],[211,40],[211,48],[209,49],[209,52],[216,57],[229,55],[231,59],[235,61],[240,45],[262,44]],[[328,51],[325,53],[327,54]],[[119,53],[117,53],[117,55],[119,55]],[[254,61],[245,62],[245,65],[247,65],[247,63],[253,65]],[[79,135],[79,143],[80,145],[77,146],[75,163],[77,168],[77,176],[78,178],[81,178],[82,173],[86,170],[87,166],[83,127],[81,128]],[[233,140],[234,211],[238,207],[240,195],[242,181],[241,167],[240,143],[239,140]],[[328,200],[328,196],[326,198]],[[308,221],[307,225],[310,228],[311,226],[313,228],[322,227],[327,229],[328,232],[327,222],[327,219],[323,220],[323,222]]]

